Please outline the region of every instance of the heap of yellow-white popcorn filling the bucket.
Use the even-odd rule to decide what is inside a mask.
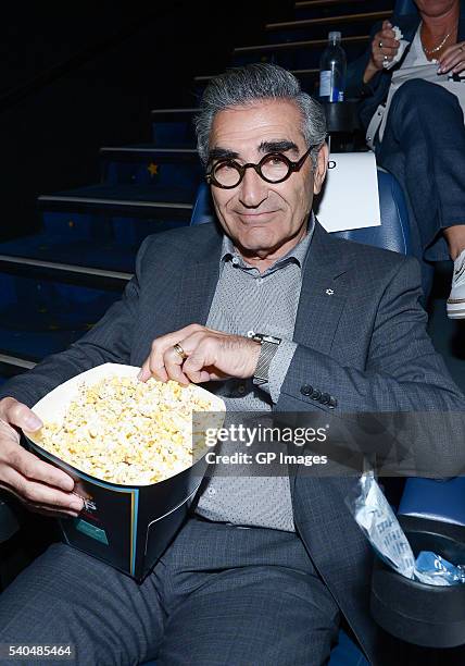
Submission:
[[[40,445],[103,481],[146,485],[190,467],[203,434],[192,412],[212,410],[197,386],[111,377],[80,384],[61,423],[46,422]],[[197,458],[196,458],[197,459]]]

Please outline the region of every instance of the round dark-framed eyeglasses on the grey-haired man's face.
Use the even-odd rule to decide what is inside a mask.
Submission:
[[[231,159],[219,160],[206,172],[206,182],[215,187],[231,189],[241,183],[246,169],[253,169],[266,183],[282,183],[291,173],[301,169],[314,147],[311,146],[297,162],[292,162],[280,152],[268,152],[263,156],[257,164],[252,162],[239,164]]]

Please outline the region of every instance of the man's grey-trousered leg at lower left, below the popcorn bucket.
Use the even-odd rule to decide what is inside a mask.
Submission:
[[[137,665],[155,655],[163,632],[154,582],[149,576],[138,585],[93,557],[53,544],[0,595],[0,643],[72,643],[76,658],[56,663]],[[10,663],[32,662],[1,659]]]

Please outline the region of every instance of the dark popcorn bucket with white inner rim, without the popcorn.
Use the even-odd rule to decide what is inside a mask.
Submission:
[[[117,363],[92,368],[56,386],[33,407],[33,411],[45,423],[60,423],[78,396],[80,385],[90,386],[114,377],[135,378],[139,370]],[[208,414],[214,415],[215,428],[221,427],[226,410],[224,402],[201,386],[192,385],[192,391],[210,402]],[[206,448],[192,457],[189,467],[167,479],[151,484],[124,485],[85,473],[49,453],[41,445],[40,431],[25,434],[29,449],[73,477],[75,492],[84,498],[85,507],[78,518],[59,520],[64,541],[141,581],[187,516],[208,467]]]

